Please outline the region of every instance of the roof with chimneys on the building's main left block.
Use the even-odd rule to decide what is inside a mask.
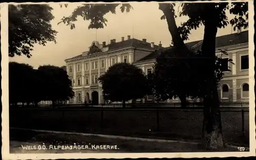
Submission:
[[[125,47],[138,47],[138,48],[152,49],[151,43],[143,42],[142,40],[135,39],[135,38],[108,44],[108,45],[106,45],[106,47],[109,47],[109,51],[113,51],[113,50],[121,49],[121,48],[125,48]],[[158,48],[159,48],[158,45],[154,45],[155,50],[157,50]],[[100,53],[100,52],[97,52],[97,53]],[[82,54],[72,57],[72,58],[68,58],[68,59],[76,59],[76,58],[81,58],[81,57],[82,57]]]

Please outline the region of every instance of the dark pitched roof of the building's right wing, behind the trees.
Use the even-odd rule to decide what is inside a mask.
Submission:
[[[234,45],[234,44],[241,44],[241,43],[246,43],[248,42],[248,31],[243,31],[241,33],[233,33],[233,34],[228,34],[228,35],[223,35],[216,37],[216,48],[221,48],[221,47],[227,47],[229,45]],[[195,51],[200,50],[202,47],[203,40],[197,40],[197,41],[192,41],[185,43],[185,45],[188,48],[193,48]],[[141,62],[144,60],[150,60],[150,59],[155,59],[161,52],[164,50],[168,50],[172,47],[166,47],[164,49],[157,50],[155,52],[152,52],[151,54],[139,59],[137,62]]]

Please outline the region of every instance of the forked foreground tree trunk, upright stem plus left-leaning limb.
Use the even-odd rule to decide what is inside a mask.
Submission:
[[[208,61],[208,71],[206,74],[206,96],[204,97],[204,121],[203,121],[203,144],[207,149],[222,148],[222,128],[221,128],[221,115],[219,109],[219,98],[217,93],[217,84],[213,80],[215,73],[215,50],[216,50],[216,34],[217,24],[216,19],[218,17],[215,13],[215,4],[207,3],[207,16],[205,16],[205,29],[204,39],[202,45],[202,52]],[[178,31],[174,12],[172,6],[169,4],[159,4],[159,9],[163,11],[168,30],[172,35],[174,47],[178,48],[181,54],[189,51],[182,40]]]

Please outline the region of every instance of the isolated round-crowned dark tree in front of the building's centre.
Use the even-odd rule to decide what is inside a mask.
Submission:
[[[130,63],[116,63],[99,77],[105,100],[122,102],[144,97],[147,80],[143,71]]]

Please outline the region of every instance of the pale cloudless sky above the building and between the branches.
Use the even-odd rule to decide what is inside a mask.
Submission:
[[[116,14],[108,13],[105,18],[108,19],[107,26],[103,29],[88,29],[90,21],[84,21],[81,17],[75,22],[76,28],[71,30],[69,26],[57,23],[63,16],[69,16],[79,3],[69,3],[68,8],[60,8],[59,3],[51,3],[53,8],[52,14],[55,18],[51,21],[52,28],[56,30],[57,36],[55,44],[54,42],[48,42],[46,46],[34,45],[31,52],[32,57],[27,58],[25,55],[9,57],[9,61],[16,61],[19,63],[28,63],[34,68],[40,65],[65,65],[65,59],[71,58],[81,54],[84,51],[88,51],[88,47],[92,41],[98,40],[110,41],[110,39],[116,39],[121,41],[121,37],[127,39],[127,35],[131,35],[132,38],[146,39],[147,42],[155,42],[159,44],[161,41],[163,47],[168,47],[171,41],[171,35],[168,31],[166,20],[161,20],[163,15],[162,11],[158,9],[157,2],[132,2],[133,7],[129,13],[121,13],[120,7],[116,8]],[[176,10],[178,11],[179,4],[176,4]],[[181,8],[179,8],[179,11]],[[230,14],[227,14],[230,18]],[[187,17],[177,17],[176,24],[187,20]],[[204,27],[201,26],[197,30],[191,31],[189,35],[189,41],[196,41],[203,39]],[[224,29],[219,29],[217,36],[234,33],[232,27],[228,25]]]

